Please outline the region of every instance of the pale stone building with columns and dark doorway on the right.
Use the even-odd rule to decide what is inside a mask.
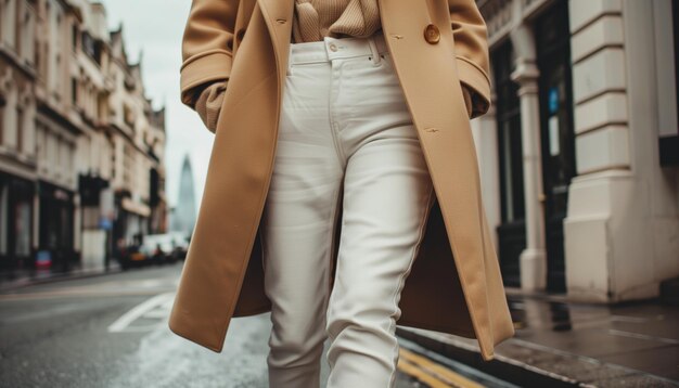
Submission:
[[[677,4],[478,0],[473,120],[505,285],[614,302],[679,275]]]

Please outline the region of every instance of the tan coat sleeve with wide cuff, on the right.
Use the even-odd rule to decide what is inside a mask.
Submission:
[[[490,108],[489,53],[486,22],[474,0],[448,0],[460,82],[472,91],[472,116]]]

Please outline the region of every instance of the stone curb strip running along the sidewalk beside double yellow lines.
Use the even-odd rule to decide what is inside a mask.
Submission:
[[[476,339],[397,326],[396,334],[421,347],[521,387],[677,387],[677,381],[518,338],[484,361]]]

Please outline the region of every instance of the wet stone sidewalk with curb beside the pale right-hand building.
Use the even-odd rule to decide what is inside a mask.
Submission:
[[[517,288],[507,294],[516,335],[496,347],[491,362],[483,362],[475,339],[410,327],[398,334],[521,386],[679,386],[678,307],[576,303]]]

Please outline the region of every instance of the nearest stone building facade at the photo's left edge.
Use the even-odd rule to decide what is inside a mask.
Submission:
[[[0,1],[0,271],[34,263],[36,2]]]

